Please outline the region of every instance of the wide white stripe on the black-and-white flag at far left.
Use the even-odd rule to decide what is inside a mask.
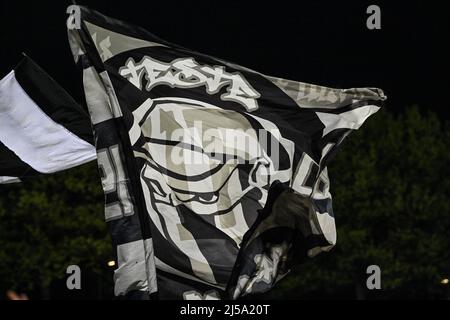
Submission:
[[[0,141],[42,173],[96,158],[94,146],[54,122],[27,95],[11,71],[0,81]]]

